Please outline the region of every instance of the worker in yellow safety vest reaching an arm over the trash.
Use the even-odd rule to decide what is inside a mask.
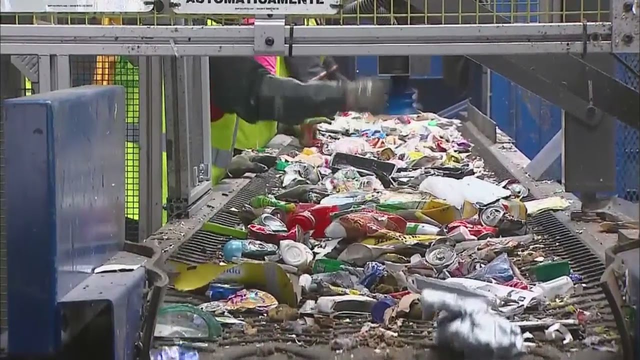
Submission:
[[[276,70],[276,72],[278,72]],[[243,74],[238,77],[237,74]],[[230,176],[226,169],[239,140],[239,120],[248,124],[269,126],[275,135],[273,121],[297,126],[305,119],[331,117],[339,111],[380,113],[385,106],[385,87],[381,81],[309,81],[269,74],[253,58],[214,56],[209,58],[211,81],[211,146],[212,179]],[[249,139],[252,146],[253,138]],[[269,137],[270,140],[270,137]],[[244,139],[243,141],[246,141]],[[268,142],[268,140],[267,140]],[[266,142],[264,142],[266,143]],[[257,145],[260,146],[258,143]],[[264,146],[264,145],[263,145]]]

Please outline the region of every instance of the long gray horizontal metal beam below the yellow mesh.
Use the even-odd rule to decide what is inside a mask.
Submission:
[[[259,29],[264,28],[260,25]],[[475,55],[609,53],[611,22],[586,24],[480,24],[415,26],[300,26],[271,53],[318,55]],[[77,34],[83,37],[77,37]],[[263,34],[264,35],[264,34]],[[6,54],[113,54],[163,56],[252,56],[254,26],[49,26],[3,25]],[[262,40],[264,41],[264,40]],[[262,51],[259,51],[260,53]]]

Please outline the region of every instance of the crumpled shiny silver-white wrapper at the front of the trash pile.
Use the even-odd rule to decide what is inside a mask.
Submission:
[[[478,360],[514,359],[524,352],[520,327],[479,299],[439,290],[422,291],[423,316],[439,312],[435,342]]]

